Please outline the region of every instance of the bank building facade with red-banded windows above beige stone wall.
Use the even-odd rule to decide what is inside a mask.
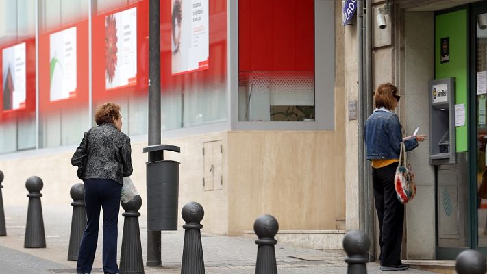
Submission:
[[[341,1],[160,2],[162,143],[181,147],[164,156],[181,162],[179,208],[198,201],[203,229],[227,235],[273,214],[283,239],[341,248],[356,153]],[[107,101],[121,105],[143,200],[149,0],[0,5],[4,203],[24,205],[37,175],[42,203],[69,206],[71,155]]]

